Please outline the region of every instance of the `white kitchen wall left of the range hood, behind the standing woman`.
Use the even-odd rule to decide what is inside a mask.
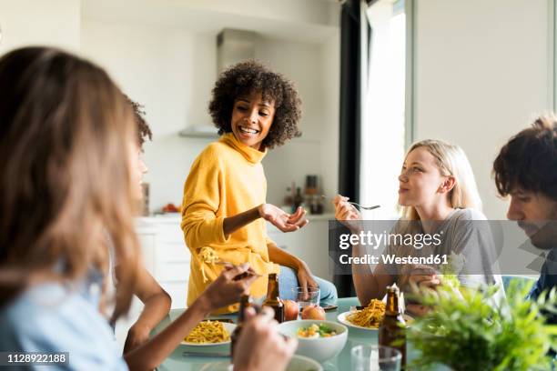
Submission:
[[[177,132],[208,120],[208,85],[216,75],[213,36],[84,20],[81,45],[84,55],[106,67],[127,95],[145,105],[154,135],[145,145],[151,208],[179,205],[189,167],[208,144]]]

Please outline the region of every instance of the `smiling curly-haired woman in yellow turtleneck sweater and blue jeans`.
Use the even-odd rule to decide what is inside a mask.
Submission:
[[[280,272],[281,298],[295,299],[292,287],[319,286],[321,303],[333,304],[335,286],[312,276],[306,263],[280,249],[266,231],[265,221],[283,232],[308,224],[301,207],[288,214],[266,202],[261,165],[269,149],[300,135],[301,101],[294,85],[248,61],[220,75],[212,94],[209,113],[221,137],[197,156],[184,186],[181,226],[192,253],[187,305],[218,276],[217,258],[249,263],[261,276],[251,286],[252,296],[265,296],[268,274]],[[208,251],[216,253],[213,259],[207,258]],[[223,307],[218,313],[237,309]]]

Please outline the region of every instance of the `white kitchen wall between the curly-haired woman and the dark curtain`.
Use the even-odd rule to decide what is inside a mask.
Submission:
[[[339,183],[339,35],[321,45],[262,39],[256,57],[294,81],[302,100],[302,136],[263,160],[268,202],[280,205],[292,181],[303,190],[306,175],[319,175],[322,193],[334,196]]]

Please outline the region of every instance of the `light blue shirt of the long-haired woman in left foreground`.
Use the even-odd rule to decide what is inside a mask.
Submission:
[[[50,282],[25,290],[0,308],[0,349],[69,352],[69,366],[49,370],[127,370],[112,330],[98,312],[101,283],[102,276],[92,274],[76,286]]]

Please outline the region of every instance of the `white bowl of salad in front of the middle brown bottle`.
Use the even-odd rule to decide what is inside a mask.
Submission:
[[[325,324],[333,331],[336,331],[337,335],[317,338],[298,337],[299,327],[308,327],[313,324]],[[346,326],[340,325],[337,322],[314,319],[283,322],[279,325],[279,333],[298,338],[296,354],[299,356],[309,356],[309,358],[313,358],[319,363],[337,356],[346,345],[346,340],[348,339],[348,328]]]

